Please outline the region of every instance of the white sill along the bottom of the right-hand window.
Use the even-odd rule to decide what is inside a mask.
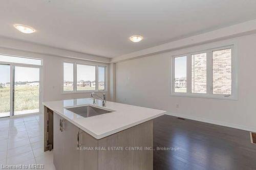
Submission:
[[[185,98],[206,98],[206,99],[219,99],[219,100],[230,100],[237,101],[238,98],[235,96],[225,97],[223,95],[207,95],[207,94],[183,94],[183,93],[171,93],[169,96],[185,97]]]

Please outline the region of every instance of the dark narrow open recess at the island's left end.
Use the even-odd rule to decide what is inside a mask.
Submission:
[[[53,149],[53,111],[44,106],[44,151]]]

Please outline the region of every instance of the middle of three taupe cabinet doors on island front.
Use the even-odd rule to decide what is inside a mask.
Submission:
[[[79,169],[79,150],[77,150],[78,127],[68,120],[63,122],[63,170]]]

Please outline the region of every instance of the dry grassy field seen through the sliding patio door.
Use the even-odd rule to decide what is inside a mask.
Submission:
[[[0,88],[0,113],[10,111],[10,88]],[[14,110],[32,110],[39,108],[39,87],[15,87]]]

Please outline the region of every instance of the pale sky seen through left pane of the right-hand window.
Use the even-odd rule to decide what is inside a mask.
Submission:
[[[186,77],[186,65],[187,57],[176,57],[175,58],[175,78]]]

